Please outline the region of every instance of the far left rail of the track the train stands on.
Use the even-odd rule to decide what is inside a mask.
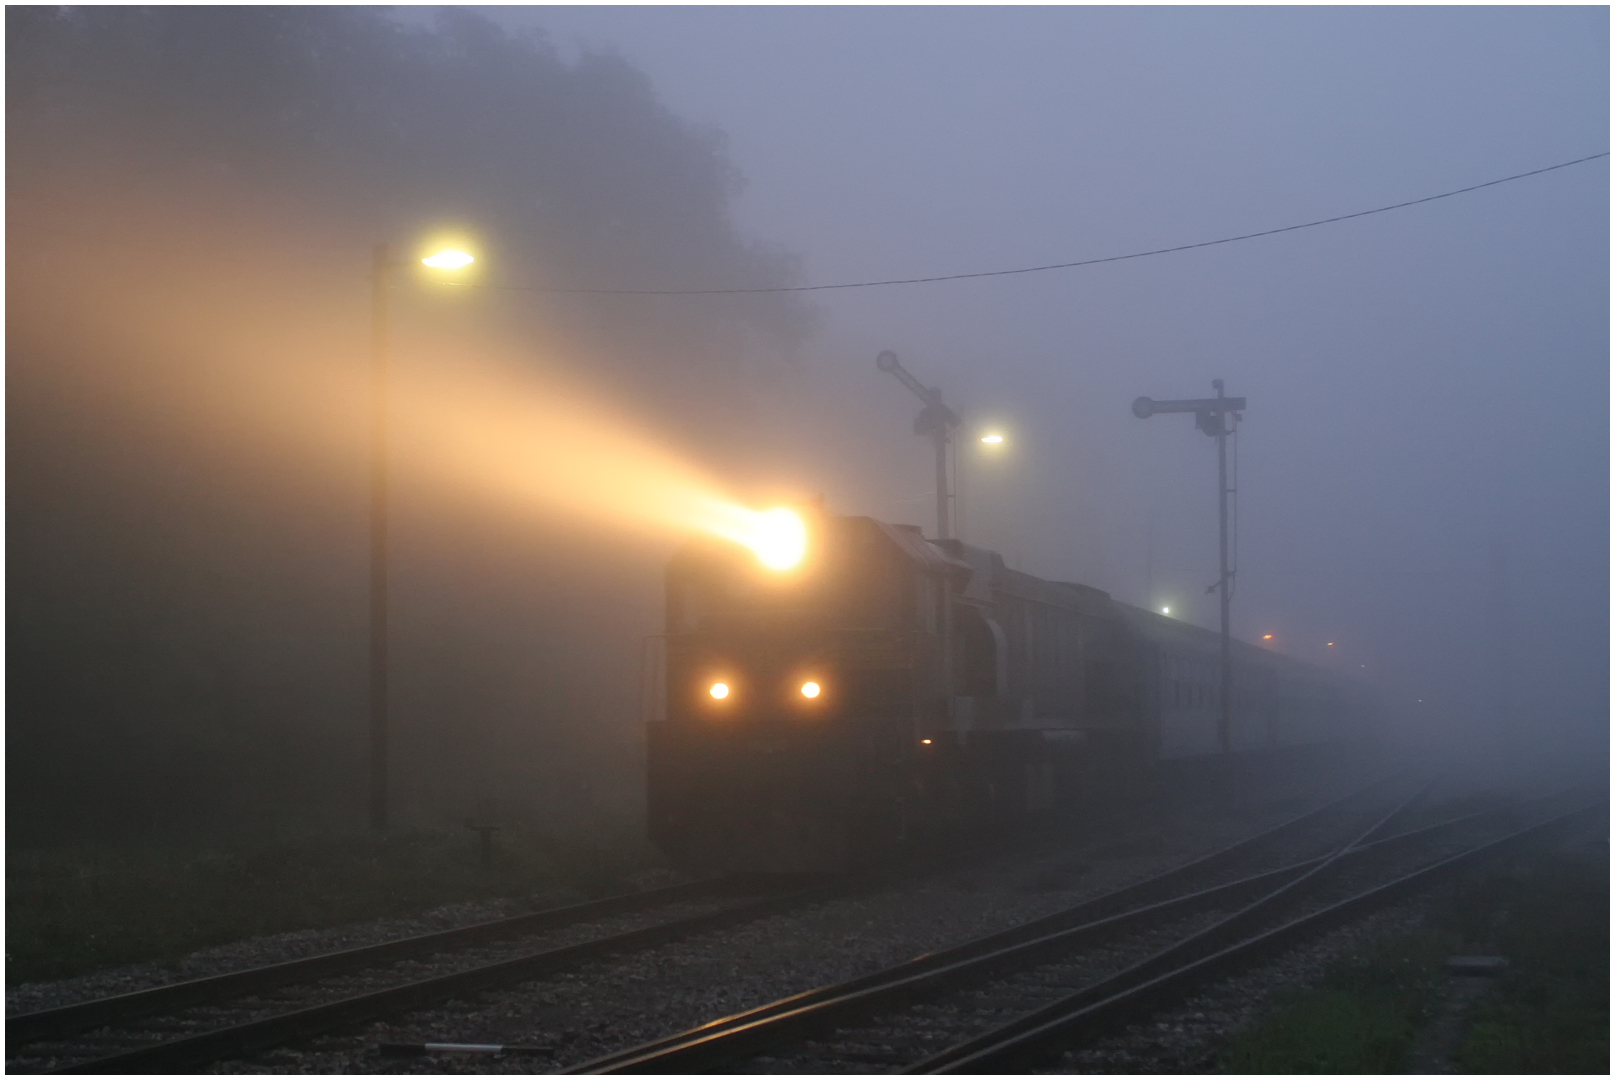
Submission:
[[[686,881],[683,885],[670,885],[661,890],[646,890],[643,893],[623,893],[620,896],[607,896],[606,899],[589,901],[585,904],[551,907],[547,910],[512,915],[509,919],[494,919],[468,927],[457,927],[454,930],[420,933],[409,938],[399,938],[396,941],[381,941],[378,944],[367,944],[354,949],[321,952],[320,956],[286,961],[283,964],[270,964],[239,972],[226,972],[223,975],[191,978],[181,983],[136,990],[111,998],[95,998],[92,1001],[81,1001],[55,1009],[23,1012],[6,1017],[5,1038],[10,1046],[37,1043],[40,1040],[74,1035],[78,1032],[89,1032],[113,1023],[126,1023],[129,1020],[137,1020],[141,1017],[155,1015],[171,1009],[216,1003],[221,998],[241,998],[276,990],[291,983],[344,975],[373,967],[376,964],[389,964],[412,956],[431,954],[444,949],[462,949],[470,944],[514,938],[523,933],[570,927],[591,919],[644,910],[648,907],[656,907],[657,904],[672,904],[701,896],[714,896],[725,891],[740,891],[748,885],[761,885],[761,878],[756,878],[756,875],[727,875],[719,878],[704,878],[701,881]]]

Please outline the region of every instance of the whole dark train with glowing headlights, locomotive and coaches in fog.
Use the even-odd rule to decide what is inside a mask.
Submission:
[[[648,827],[691,870],[869,865],[1072,812],[1158,770],[1331,752],[1363,688],[917,526],[803,507],[795,557],[698,538],[667,565]]]

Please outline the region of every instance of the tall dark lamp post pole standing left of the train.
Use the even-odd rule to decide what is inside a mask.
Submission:
[[[388,271],[376,244],[370,274],[370,828],[388,827]]]

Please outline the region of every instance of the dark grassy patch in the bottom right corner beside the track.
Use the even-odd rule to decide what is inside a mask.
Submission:
[[[1447,994],[1447,957],[1494,949],[1508,973],[1473,1007],[1457,1061],[1483,1074],[1609,1072],[1609,860],[1550,854],[1473,877],[1415,933],[1290,996],[1229,1044],[1245,1074],[1402,1072]]]

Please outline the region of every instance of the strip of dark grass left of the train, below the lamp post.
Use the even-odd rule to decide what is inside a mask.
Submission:
[[[460,901],[623,891],[654,864],[643,841],[580,843],[509,828],[483,865],[476,835],[436,828],[307,836],[231,849],[6,856],[6,980],[174,961],[226,941],[404,915]]]

